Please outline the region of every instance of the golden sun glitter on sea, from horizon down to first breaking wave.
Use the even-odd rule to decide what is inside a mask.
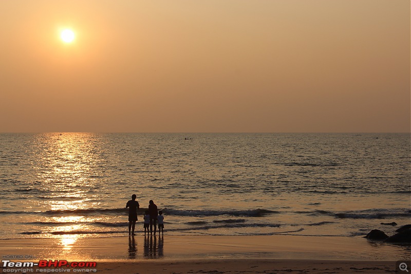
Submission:
[[[100,159],[94,134],[50,133],[39,137],[36,176],[44,193],[45,210],[76,210],[95,206],[88,192],[96,189]]]

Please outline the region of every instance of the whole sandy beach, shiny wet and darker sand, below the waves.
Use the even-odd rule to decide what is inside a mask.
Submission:
[[[83,268],[31,267],[34,272],[60,269],[140,274],[389,273],[395,272],[396,261],[406,260],[411,252],[409,247],[347,237],[136,235],[77,239],[76,235],[71,236],[1,240],[0,252],[3,260],[10,262],[96,262],[95,267]],[[21,267],[3,267],[2,271],[11,272],[11,269],[23,271]]]

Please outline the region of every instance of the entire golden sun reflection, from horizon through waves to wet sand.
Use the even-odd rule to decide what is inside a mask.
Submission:
[[[70,250],[89,235],[89,224],[99,220],[81,211],[101,204],[89,194],[100,187],[99,141],[89,133],[48,133],[37,138],[39,151],[33,166],[43,193],[38,206],[48,215],[39,222],[44,224],[43,232],[58,239],[63,250]]]

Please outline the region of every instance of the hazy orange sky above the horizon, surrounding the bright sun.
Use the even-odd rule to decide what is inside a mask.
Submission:
[[[410,132],[410,24],[409,0],[2,0],[0,132]]]

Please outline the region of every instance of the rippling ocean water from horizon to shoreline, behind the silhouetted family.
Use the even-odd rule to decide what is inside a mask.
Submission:
[[[394,234],[411,223],[409,134],[0,134],[0,238]],[[396,222],[397,227],[381,223]]]

